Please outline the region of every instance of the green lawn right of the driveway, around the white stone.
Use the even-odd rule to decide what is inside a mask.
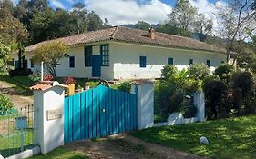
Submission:
[[[222,159],[256,158],[256,115],[149,128],[131,135],[171,148]],[[200,144],[206,136],[210,144]]]

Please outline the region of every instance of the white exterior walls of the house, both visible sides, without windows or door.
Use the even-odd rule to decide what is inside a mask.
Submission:
[[[93,46],[93,55],[99,55],[100,44],[109,44],[109,66],[101,67],[101,79],[105,80],[158,78],[163,66],[168,64],[168,58],[173,58],[174,65],[179,70],[189,66],[189,59],[193,59],[194,63],[198,64],[206,64],[206,61],[210,60],[211,71],[226,59],[224,54],[113,41],[89,44]],[[60,65],[57,65],[56,76],[92,78],[92,67],[85,67],[84,47],[85,45],[77,45],[69,49],[67,55],[75,56],[75,68],[69,67],[69,58],[63,58],[59,61]],[[31,56],[26,55],[26,59]],[[146,68],[139,67],[139,56],[146,56]],[[30,67],[30,61],[28,61],[28,67]],[[40,66],[35,64],[34,72],[39,71]]]

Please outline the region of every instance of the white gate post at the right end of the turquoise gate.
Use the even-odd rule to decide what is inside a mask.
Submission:
[[[137,94],[138,130],[152,127],[154,124],[154,85],[149,80],[132,83],[131,93]]]

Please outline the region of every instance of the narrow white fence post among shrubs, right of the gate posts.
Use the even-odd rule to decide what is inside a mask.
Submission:
[[[197,117],[199,122],[205,120],[205,96],[202,92],[194,93],[194,104],[198,108]]]

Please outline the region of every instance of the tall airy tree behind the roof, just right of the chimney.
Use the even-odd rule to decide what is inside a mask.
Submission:
[[[175,8],[168,15],[169,25],[175,25],[184,30],[189,30],[189,27],[197,15],[197,8],[193,7],[189,0],[178,0]]]

